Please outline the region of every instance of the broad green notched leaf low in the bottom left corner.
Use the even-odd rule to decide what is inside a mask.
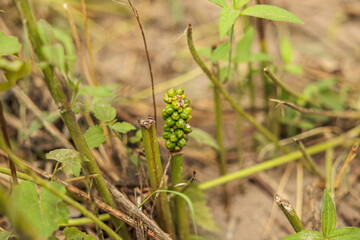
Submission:
[[[66,193],[65,187],[57,182],[47,184],[62,194]],[[50,237],[59,229],[58,220],[63,218],[59,215],[62,200],[46,188],[41,189],[39,196],[34,183],[23,181],[13,188],[10,201],[12,207],[21,211],[22,216],[32,223],[31,227],[44,238]]]

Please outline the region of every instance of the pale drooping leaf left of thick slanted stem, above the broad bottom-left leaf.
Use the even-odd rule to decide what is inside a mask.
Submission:
[[[61,169],[69,176],[74,174],[80,176],[81,171],[81,155],[73,149],[56,149],[46,155],[47,159],[53,159],[61,163]]]

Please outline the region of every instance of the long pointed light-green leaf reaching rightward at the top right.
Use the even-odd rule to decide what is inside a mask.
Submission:
[[[297,16],[285,9],[271,5],[254,5],[246,8],[241,15],[265,18],[273,21],[293,22],[304,24]]]

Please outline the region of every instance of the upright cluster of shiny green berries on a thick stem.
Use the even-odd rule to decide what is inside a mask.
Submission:
[[[177,90],[171,88],[165,93],[164,101],[166,106],[162,110],[162,118],[166,121],[163,127],[165,146],[170,151],[180,151],[185,147],[188,134],[192,131],[188,124],[192,118],[190,100],[186,98],[183,88]]]

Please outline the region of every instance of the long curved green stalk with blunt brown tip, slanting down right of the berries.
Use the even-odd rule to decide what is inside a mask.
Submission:
[[[204,71],[204,73],[208,76],[214,86],[219,90],[219,92],[224,96],[224,98],[230,103],[230,105],[238,112],[240,116],[245,118],[251,125],[253,125],[257,130],[259,130],[266,138],[268,138],[271,142],[273,142],[280,150],[285,153],[288,153],[289,150],[282,146],[279,143],[279,139],[275,137],[269,130],[260,125],[253,117],[247,114],[241,106],[239,106],[236,101],[230,96],[230,94],[225,90],[225,88],[221,85],[219,80],[212,74],[209,69],[206,67],[204,62],[201,60],[199,55],[197,54],[194,43],[192,40],[192,27],[191,24],[188,25],[187,28],[187,41],[188,47],[190,49],[191,55],[193,56],[195,62],[200,66],[200,68]]]

